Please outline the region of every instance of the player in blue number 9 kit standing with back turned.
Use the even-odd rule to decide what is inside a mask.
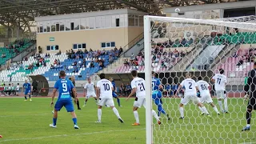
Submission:
[[[54,97],[58,90],[58,100],[54,106],[54,118],[53,123],[50,124],[50,127],[56,128],[57,118],[58,118],[58,111],[62,110],[62,107],[65,106],[66,111],[70,112],[72,115],[72,120],[74,122],[74,129],[79,129],[78,127],[78,120],[77,115],[74,113],[74,105],[72,102],[71,92],[74,94],[74,100],[77,102],[77,93],[74,88],[73,83],[66,78],[66,73],[64,70],[59,72],[60,79],[55,82],[53,96],[51,98],[50,105],[54,105]]]

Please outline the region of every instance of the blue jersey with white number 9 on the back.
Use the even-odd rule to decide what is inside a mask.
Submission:
[[[72,100],[71,92],[74,89],[74,85],[69,79],[59,79],[55,82],[54,88],[58,90],[58,101]]]

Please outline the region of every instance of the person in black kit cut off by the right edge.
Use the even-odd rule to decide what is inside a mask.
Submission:
[[[254,62],[254,70],[250,70],[248,73],[247,83],[244,87],[246,94],[250,93],[249,102],[246,110],[247,125],[242,128],[242,131],[250,130],[250,118],[252,110],[256,110],[256,62]]]

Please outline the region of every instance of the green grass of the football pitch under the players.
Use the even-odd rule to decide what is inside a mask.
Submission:
[[[82,105],[83,98],[80,98]],[[115,102],[115,100],[114,100]],[[0,98],[0,143],[106,143],[142,144],[146,143],[145,110],[138,110],[141,126],[131,126],[134,122],[133,99],[125,102],[118,111],[125,123],[118,122],[110,108],[102,109],[102,123],[97,120],[97,106],[93,99],[82,110],[76,110],[80,130],[74,130],[70,114],[65,109],[58,114],[58,128],[52,129],[50,98],[34,98],[33,102],[23,102],[22,98]],[[212,118],[199,116],[198,109],[190,104],[185,107],[186,118],[179,120],[178,98],[164,99],[166,111],[171,120],[162,116],[162,125],[154,121],[155,143],[244,143],[256,142],[256,126],[253,114],[250,132],[241,132],[245,126],[246,105],[239,98],[229,99],[230,114],[217,115],[210,106],[206,108]],[[214,100],[216,103],[216,101]],[[155,109],[155,108],[154,108]],[[157,136],[157,137],[156,137]]]

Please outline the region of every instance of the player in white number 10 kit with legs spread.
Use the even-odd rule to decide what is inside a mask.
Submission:
[[[100,81],[97,82],[97,98],[98,98],[98,121],[96,123],[102,122],[102,106],[108,105],[114,111],[114,114],[118,117],[120,122],[123,122],[120,117],[117,108],[114,107],[113,101],[113,86],[112,83],[105,78],[105,74],[100,74]]]

